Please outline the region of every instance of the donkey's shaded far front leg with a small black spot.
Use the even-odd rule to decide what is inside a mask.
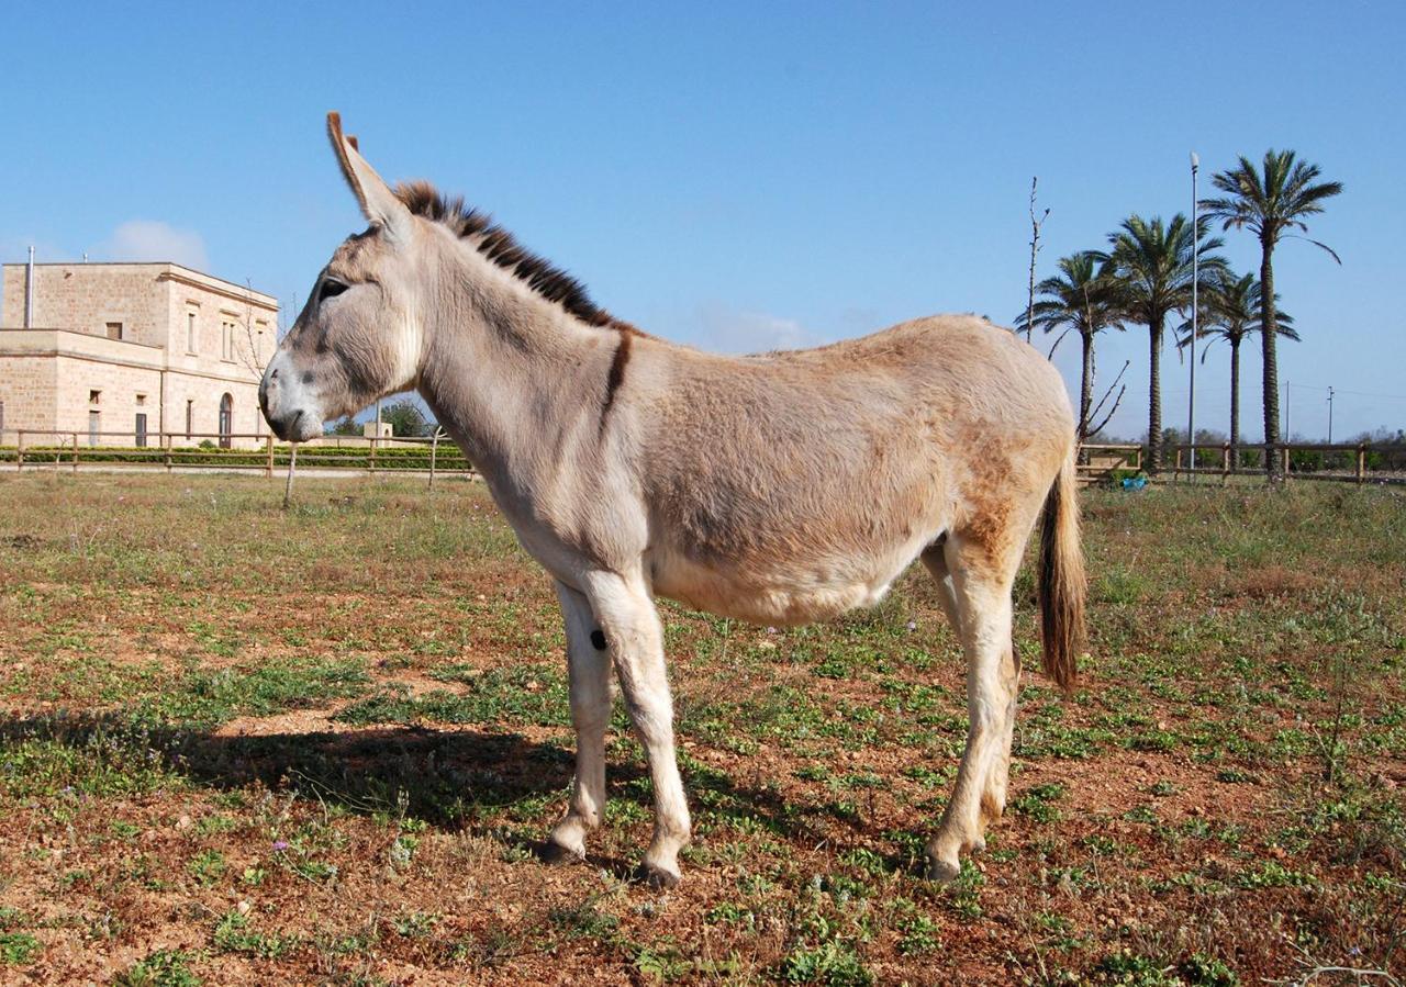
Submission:
[[[579,860],[586,832],[600,825],[606,807],[606,725],[610,723],[610,655],[598,648],[591,603],[558,582],[557,599],[567,624],[567,669],[571,678],[571,723],[576,728],[576,778],[567,814],[553,828],[547,859]]]

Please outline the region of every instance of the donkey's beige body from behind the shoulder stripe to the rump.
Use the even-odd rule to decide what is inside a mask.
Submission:
[[[665,367],[640,423],[655,589],[731,616],[875,603],[955,524],[1042,499],[1073,441],[1059,374],[973,316],[740,359],[654,346],[637,359]]]

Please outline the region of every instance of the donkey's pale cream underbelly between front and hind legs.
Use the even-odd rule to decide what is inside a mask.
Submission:
[[[859,565],[797,561],[766,571],[655,553],[650,571],[657,595],[699,610],[758,624],[804,624],[876,605],[921,548],[904,546]]]

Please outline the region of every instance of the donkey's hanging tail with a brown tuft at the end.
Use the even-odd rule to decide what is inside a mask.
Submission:
[[[1084,650],[1084,550],[1078,544],[1073,450],[1045,498],[1039,593],[1045,673],[1069,692],[1078,679]]]

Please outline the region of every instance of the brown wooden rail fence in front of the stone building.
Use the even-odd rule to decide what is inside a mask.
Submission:
[[[292,446],[271,434],[208,434],[166,432],[44,432],[21,429],[14,446],[0,446],[0,463],[15,470],[70,470],[121,465],[132,470],[240,470],[273,477],[287,467]],[[441,449],[443,446],[443,449]],[[298,443],[297,463],[304,470],[349,472],[415,472],[434,477],[470,475],[472,465],[441,432],[429,437],[373,437],[359,446]]]

